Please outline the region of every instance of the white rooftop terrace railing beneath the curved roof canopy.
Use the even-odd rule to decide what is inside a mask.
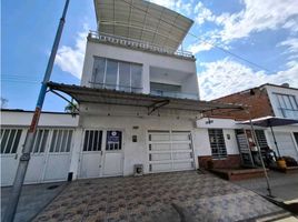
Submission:
[[[97,39],[97,40],[102,41],[102,42],[109,42],[109,43],[113,43],[113,44],[121,44],[125,47],[149,50],[149,51],[153,51],[153,52],[158,52],[158,53],[165,53],[165,54],[171,54],[171,56],[191,58],[191,59],[195,58],[193,54],[191,52],[188,52],[188,51],[173,50],[173,49],[169,49],[169,48],[161,48],[158,44],[145,42],[141,40],[118,37],[118,36],[107,34],[107,33],[102,33],[102,32],[99,33],[97,31],[90,31],[88,38]]]

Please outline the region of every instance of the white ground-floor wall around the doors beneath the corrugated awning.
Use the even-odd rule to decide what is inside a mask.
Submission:
[[[82,129],[119,129],[123,131],[125,175],[131,175],[133,173],[133,164],[137,163],[143,164],[145,173],[149,172],[148,130],[191,131],[195,157],[199,154],[199,144],[197,143],[200,143],[200,141],[196,139],[196,117],[193,114],[186,114],[187,117],[183,117],[181,113],[170,114],[160,112],[160,117],[158,117],[157,112],[153,115],[148,115],[147,110],[139,108],[118,108],[117,105],[99,108],[95,104],[85,104],[81,109],[86,110],[80,117],[80,127]],[[138,127],[138,129],[135,130],[133,127]],[[138,142],[132,142],[131,140],[135,134],[138,135]],[[198,168],[198,163],[196,163],[196,167]]]

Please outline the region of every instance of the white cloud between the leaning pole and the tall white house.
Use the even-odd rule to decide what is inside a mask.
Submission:
[[[82,74],[82,63],[86,50],[88,26],[83,26],[83,31],[77,34],[76,46],[62,46],[59,48],[54,63],[64,72],[69,72],[80,79]]]

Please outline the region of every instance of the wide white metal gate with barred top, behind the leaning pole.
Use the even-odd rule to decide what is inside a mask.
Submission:
[[[27,129],[1,129],[1,186],[13,183]],[[72,147],[72,129],[38,129],[24,183],[67,180]]]

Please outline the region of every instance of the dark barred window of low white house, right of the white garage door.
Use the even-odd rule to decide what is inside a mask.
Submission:
[[[213,159],[227,158],[227,149],[221,129],[209,129],[209,140]]]

